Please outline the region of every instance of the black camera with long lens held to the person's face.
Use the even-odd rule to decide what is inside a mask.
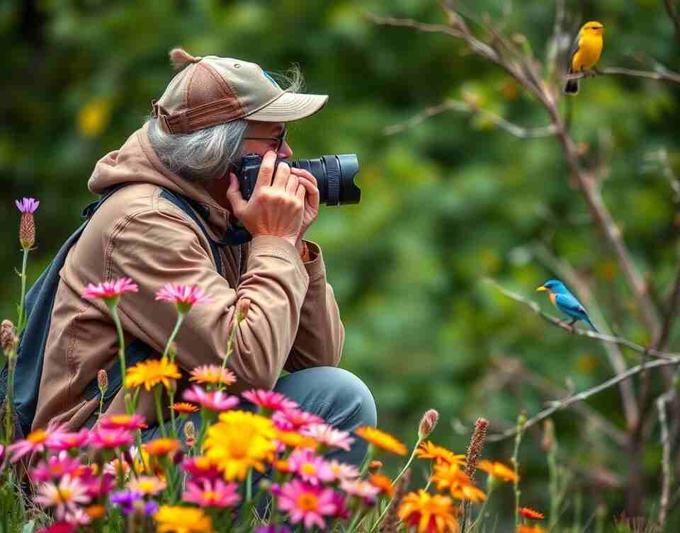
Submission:
[[[276,159],[275,175],[280,161],[284,161],[292,168],[302,168],[317,178],[321,204],[358,204],[361,200],[361,189],[354,183],[354,177],[359,171],[356,154],[336,154],[321,156],[317,159],[293,159],[293,161]],[[246,154],[241,160],[236,175],[244,200],[249,200],[253,194],[261,164],[262,156],[259,154]]]

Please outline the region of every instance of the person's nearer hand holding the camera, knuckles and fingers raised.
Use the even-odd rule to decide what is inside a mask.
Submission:
[[[264,154],[253,194],[247,202],[239,191],[239,180],[236,174],[229,173],[227,199],[232,205],[234,216],[241,221],[252,236],[277,236],[297,246],[303,217],[307,212],[305,194],[310,186],[300,182],[308,180],[311,174],[307,172],[309,176],[300,178],[297,172],[291,172],[288,164],[280,162],[276,167],[276,176],[272,180],[275,161],[274,151]],[[318,205],[317,190],[317,210]],[[316,214],[312,220],[315,217]]]

